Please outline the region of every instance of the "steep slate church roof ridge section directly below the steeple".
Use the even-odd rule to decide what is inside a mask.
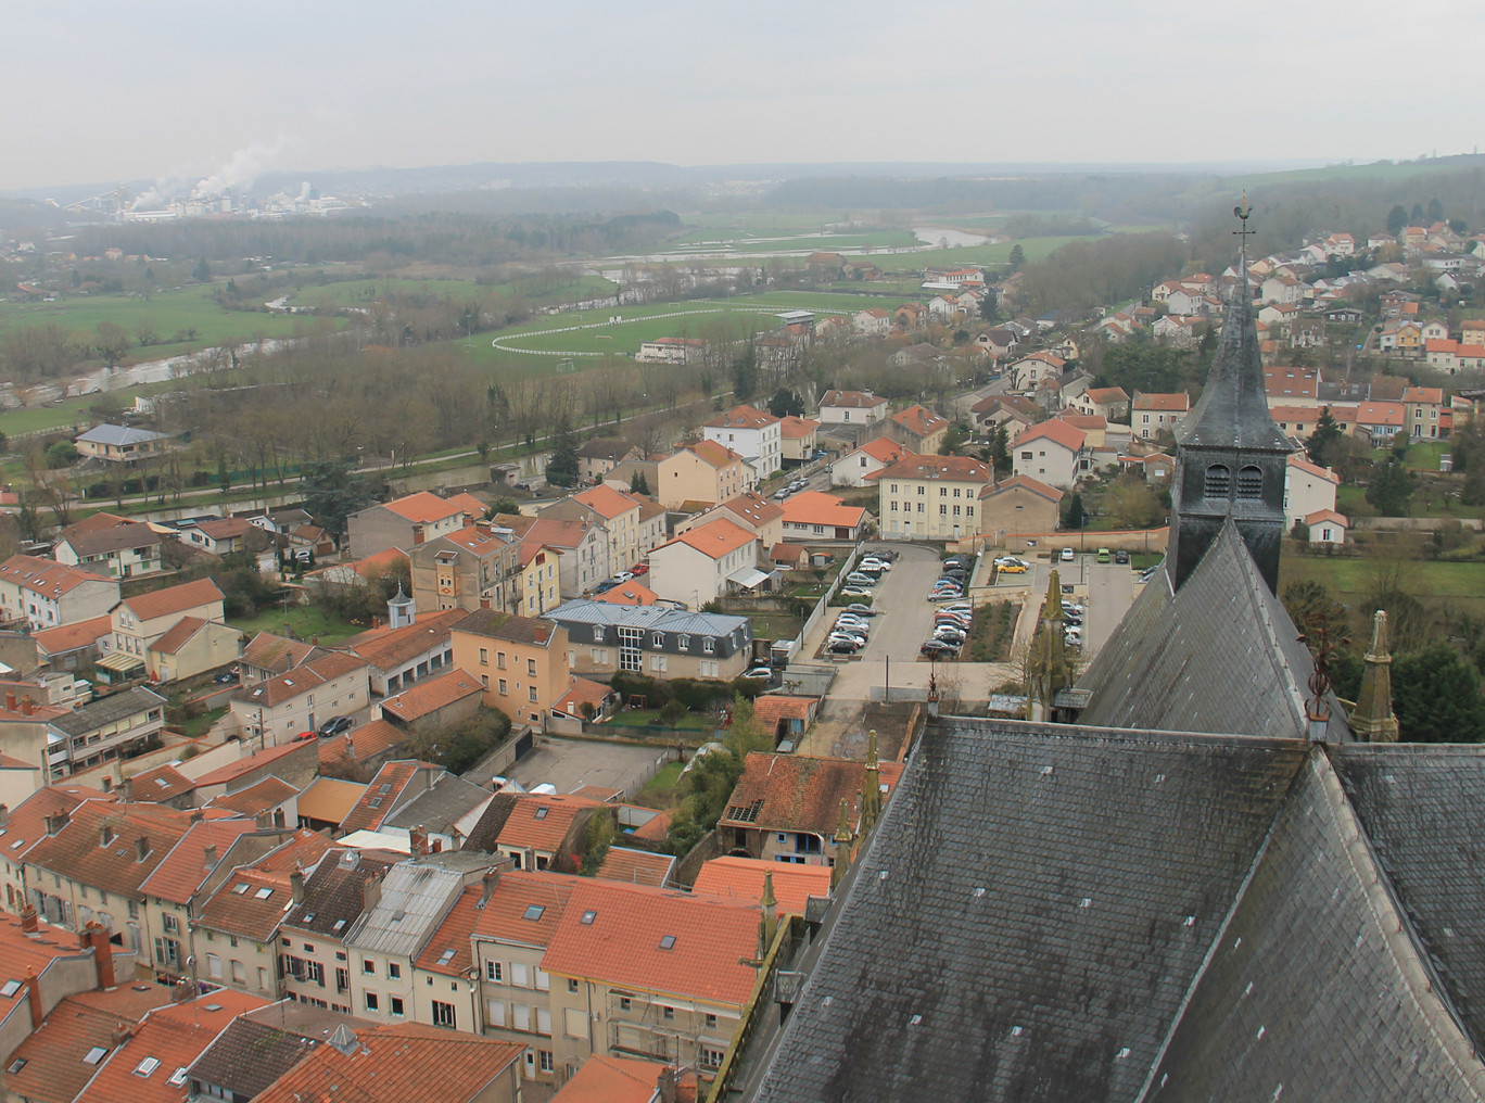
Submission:
[[[1299,629],[1228,521],[1179,591],[1158,570],[1135,598],[1078,678],[1093,692],[1080,720],[1302,739],[1313,671]],[[1328,741],[1350,738],[1332,695]]]

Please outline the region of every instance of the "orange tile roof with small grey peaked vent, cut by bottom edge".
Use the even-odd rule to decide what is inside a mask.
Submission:
[[[407,1103],[434,1097],[472,1100],[526,1053],[517,1042],[497,1042],[413,1023],[356,1030],[359,1045],[340,1053],[321,1045],[254,1103]]]

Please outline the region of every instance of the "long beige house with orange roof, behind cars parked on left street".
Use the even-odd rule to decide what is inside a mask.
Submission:
[[[347,652],[309,659],[278,677],[232,690],[229,707],[245,741],[281,747],[301,732],[315,732],[336,716],[371,704],[371,668]]]

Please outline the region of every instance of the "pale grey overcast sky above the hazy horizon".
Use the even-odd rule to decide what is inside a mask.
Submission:
[[[483,160],[1377,160],[1469,153],[1485,116],[1418,55],[1442,42],[1467,68],[1478,0],[0,0],[0,189]]]

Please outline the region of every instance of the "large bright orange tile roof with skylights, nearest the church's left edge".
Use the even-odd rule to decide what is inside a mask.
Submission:
[[[585,880],[567,900],[542,968],[741,1007],[757,981],[744,960],[757,955],[760,917],[756,904],[722,897]]]

